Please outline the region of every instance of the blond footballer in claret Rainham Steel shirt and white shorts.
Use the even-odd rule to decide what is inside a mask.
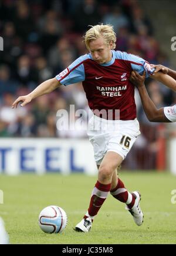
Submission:
[[[156,72],[153,76],[154,68],[140,56],[115,51],[116,34],[111,25],[91,26],[84,35],[84,42],[89,54],[77,58],[55,78],[43,82],[30,94],[16,99],[12,108],[16,108],[20,101],[23,107],[32,99],[48,94],[61,85],[82,82],[89,107],[94,114],[89,120],[87,134],[94,148],[98,175],[88,210],[75,230],[90,231],[94,217],[109,193],[126,205],[134,222],[140,226],[143,223],[140,192],[129,192],[117,177],[117,167],[140,135],[134,85],[130,81],[130,75],[132,71],[140,74],[145,71],[145,77],[151,76],[174,91],[176,81],[163,72]]]

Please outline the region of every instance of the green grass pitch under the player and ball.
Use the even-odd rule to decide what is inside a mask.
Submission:
[[[176,177],[168,172],[124,172],[120,178],[130,191],[141,192],[144,223],[134,224],[124,204],[108,196],[93,222],[92,230],[77,233],[73,227],[89,206],[96,177],[83,174],[16,177],[0,175],[4,204],[0,215],[5,221],[11,244],[176,244],[176,204],[171,191]],[[45,234],[38,225],[40,211],[62,207],[68,224],[62,234]]]

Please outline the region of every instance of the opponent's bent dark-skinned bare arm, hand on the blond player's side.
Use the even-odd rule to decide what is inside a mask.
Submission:
[[[148,120],[150,122],[170,122],[164,115],[164,108],[157,109],[148,95],[144,84],[145,71],[143,75],[138,74],[137,71],[132,71],[130,81],[133,82],[138,89],[144,112],[147,115]]]

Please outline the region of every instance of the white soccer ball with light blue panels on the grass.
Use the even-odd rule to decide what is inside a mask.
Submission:
[[[39,214],[39,226],[46,233],[61,233],[66,225],[66,212],[56,205],[44,208]]]

